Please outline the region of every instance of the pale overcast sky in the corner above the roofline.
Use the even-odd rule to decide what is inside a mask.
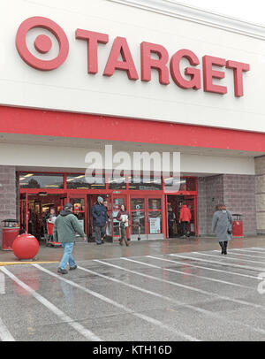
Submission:
[[[176,0],[175,2],[265,26],[264,0]]]

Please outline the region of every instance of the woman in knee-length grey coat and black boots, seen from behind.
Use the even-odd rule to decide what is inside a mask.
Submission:
[[[217,240],[222,248],[222,255],[227,255],[227,242],[232,239],[232,223],[231,212],[226,210],[224,204],[218,204],[212,221],[212,232],[216,233]]]

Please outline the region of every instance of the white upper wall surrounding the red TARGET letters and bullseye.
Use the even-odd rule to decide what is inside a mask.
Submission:
[[[1,104],[265,132],[262,40],[107,0],[9,0],[0,3],[0,11]],[[21,22],[32,16],[53,19],[67,34],[69,56],[57,70],[35,70],[19,57],[16,32]],[[96,75],[87,74],[87,43],[75,40],[77,28],[110,35],[110,42],[99,46]],[[42,29],[32,33],[31,48],[36,34],[47,34]],[[128,80],[122,71],[110,78],[102,76],[117,36],[127,39],[139,76],[143,41],[163,45],[170,57],[177,50],[189,49],[200,61],[210,55],[248,63],[245,95],[234,96],[233,73],[228,69],[224,70],[225,79],[216,81],[228,87],[227,95],[205,93],[202,88],[184,90],[172,79],[170,85],[161,85],[156,71],[148,83]],[[202,69],[202,65],[198,67]]]

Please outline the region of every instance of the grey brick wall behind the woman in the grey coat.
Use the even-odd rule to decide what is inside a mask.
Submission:
[[[211,233],[216,204],[243,215],[245,234],[256,234],[255,176],[219,175],[198,179],[199,234]]]

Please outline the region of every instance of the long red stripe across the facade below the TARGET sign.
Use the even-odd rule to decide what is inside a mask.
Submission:
[[[7,106],[0,132],[265,152],[264,133]]]

